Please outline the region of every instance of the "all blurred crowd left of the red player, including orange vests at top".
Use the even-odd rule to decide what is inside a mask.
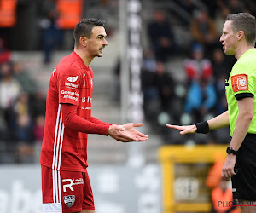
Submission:
[[[98,3],[103,9],[108,0]],[[13,60],[12,52],[40,50],[38,67],[51,67],[54,50],[73,49],[73,28],[87,6],[94,6],[93,2],[0,1],[0,164],[38,162],[44,135],[45,90],[39,88],[26,62]],[[15,42],[15,32],[20,43]]]

